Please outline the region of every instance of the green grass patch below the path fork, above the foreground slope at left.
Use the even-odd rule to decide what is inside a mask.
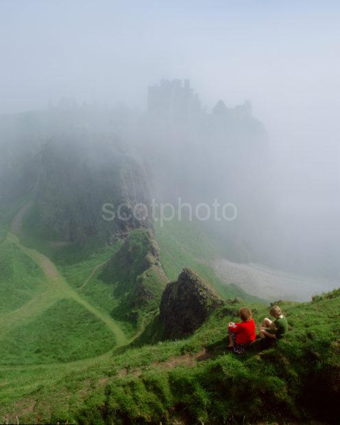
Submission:
[[[98,317],[64,298],[0,337],[0,364],[74,361],[97,356],[114,345],[114,335]]]

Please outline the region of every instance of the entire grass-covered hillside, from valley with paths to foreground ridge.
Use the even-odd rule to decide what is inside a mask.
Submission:
[[[259,323],[268,306],[215,277],[208,265],[215,252],[195,223],[156,226],[156,241],[135,230],[124,243],[68,261],[65,247],[45,250],[48,238],[29,243],[26,206],[0,231],[1,423],[337,421],[339,291],[282,302],[287,337],[235,356],[226,350],[228,321],[246,304]],[[58,252],[63,260],[56,263]],[[225,304],[193,335],[171,341],[158,305],[183,267],[195,269]],[[132,306],[141,289],[146,304]]]

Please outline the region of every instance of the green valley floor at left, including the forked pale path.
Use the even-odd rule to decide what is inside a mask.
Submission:
[[[12,231],[19,236],[27,209],[24,204],[13,219]],[[83,285],[93,274],[93,264],[96,270],[97,262],[113,249],[93,256],[88,269],[83,267]],[[45,254],[22,245],[7,228],[0,254],[0,364],[75,361],[127,343],[99,302],[77,291],[75,282],[70,284]]]

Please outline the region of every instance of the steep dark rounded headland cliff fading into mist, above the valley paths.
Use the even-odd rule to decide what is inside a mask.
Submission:
[[[150,204],[141,167],[114,141],[98,136],[66,136],[45,145],[35,201],[38,217],[64,241],[95,237],[109,243],[134,228],[152,228],[149,210],[147,217],[132,213],[137,203]]]

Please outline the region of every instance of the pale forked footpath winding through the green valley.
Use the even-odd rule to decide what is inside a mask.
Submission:
[[[117,323],[105,313],[99,311],[95,306],[90,304],[90,302],[84,300],[82,296],[77,293],[73,288],[69,286],[66,280],[59,274],[56,265],[44,254],[33,250],[32,248],[27,248],[21,245],[19,240],[19,234],[21,232],[21,223],[25,213],[31,208],[32,202],[25,204],[19,212],[14,217],[12,222],[12,233],[8,234],[8,239],[15,243],[29,258],[32,258],[36,264],[42,269],[45,276],[47,277],[47,287],[46,291],[42,294],[37,295],[35,298],[27,302],[24,306],[19,308],[17,311],[14,311],[12,315],[6,317],[4,326],[9,328],[11,324],[14,324],[16,321],[22,320],[23,317],[31,319],[35,317],[42,311],[44,311],[50,304],[53,304],[56,300],[60,298],[72,298],[79,304],[82,304],[90,313],[93,313],[98,319],[104,322],[108,328],[112,331],[116,337],[116,348],[120,345],[127,344],[127,338],[123,330],[117,325]],[[97,266],[99,268],[101,265]],[[96,269],[97,269],[96,268]],[[89,276],[88,280],[95,274],[95,270]],[[85,282],[87,283],[88,280]],[[83,285],[84,286],[84,285]]]

